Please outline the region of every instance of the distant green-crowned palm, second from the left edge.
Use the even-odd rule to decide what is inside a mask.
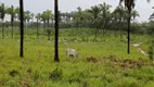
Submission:
[[[15,9],[14,9],[14,7],[11,5],[10,8],[8,8],[7,12],[8,12],[8,14],[11,15],[12,38],[13,38],[13,23],[14,23],[14,17],[15,17]]]

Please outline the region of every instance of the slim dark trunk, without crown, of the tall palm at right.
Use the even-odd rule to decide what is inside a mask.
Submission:
[[[128,13],[128,36],[127,36],[127,38],[128,38],[128,47],[127,47],[127,52],[128,52],[128,54],[130,54],[130,20],[131,20],[131,16],[130,16],[130,14],[131,14],[131,11],[129,11],[129,13]]]

